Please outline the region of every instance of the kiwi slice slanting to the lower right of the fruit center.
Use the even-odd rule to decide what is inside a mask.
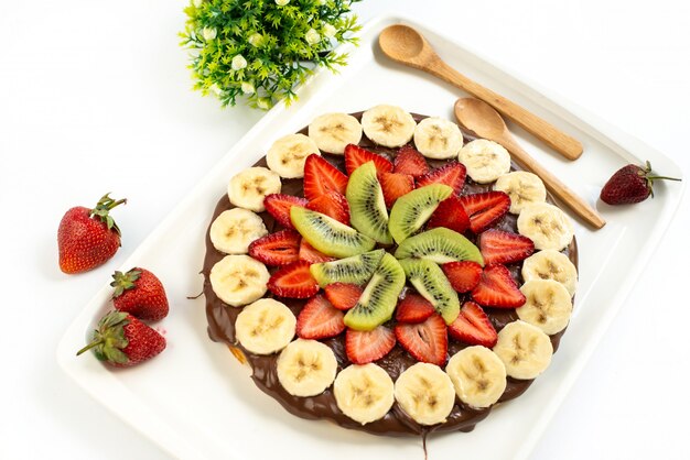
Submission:
[[[433,305],[446,325],[452,324],[460,314],[460,300],[441,267],[424,259],[403,259],[400,265],[417,292]]]

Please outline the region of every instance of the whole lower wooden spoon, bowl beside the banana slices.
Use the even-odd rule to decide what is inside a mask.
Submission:
[[[606,221],[590,205],[537,163],[515,141],[503,118],[492,106],[479,99],[461,98],[455,102],[455,118],[463,128],[474,132],[479,138],[488,139],[506,147],[516,162],[538,175],[549,191],[592,227],[601,229],[606,224]]]

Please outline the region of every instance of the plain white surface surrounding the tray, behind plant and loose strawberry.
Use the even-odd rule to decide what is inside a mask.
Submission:
[[[169,458],[72,383],[54,350],[114,267],[261,118],[190,90],[183,4],[0,2],[1,459]],[[413,15],[690,173],[690,3],[365,0],[356,10],[363,21]],[[60,218],[105,191],[130,200],[114,212],[122,248],[99,270],[62,274]],[[686,195],[533,459],[690,457],[688,228]]]

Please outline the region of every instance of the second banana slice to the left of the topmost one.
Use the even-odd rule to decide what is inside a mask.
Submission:
[[[304,162],[312,153],[321,155],[313,140],[304,134],[288,134],[273,142],[266,154],[266,163],[280,177],[304,177]]]

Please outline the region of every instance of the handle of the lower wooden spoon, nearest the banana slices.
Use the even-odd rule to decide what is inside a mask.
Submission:
[[[547,189],[560,199],[565,206],[568,206],[574,213],[580,216],[584,221],[594,227],[601,229],[606,224],[606,221],[594,210],[585,200],[580,198],[573,190],[563,184],[558,177],[549,173],[543,166],[541,166],[532,156],[525,151],[513,136],[504,136],[502,139],[495,139],[506,147],[513,155],[513,158],[522,165],[526,169],[531,171],[538,175]]]

